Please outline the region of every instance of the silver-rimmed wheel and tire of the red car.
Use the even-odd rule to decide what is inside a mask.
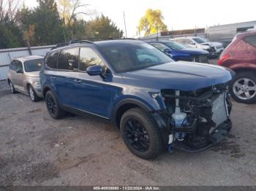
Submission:
[[[256,75],[252,72],[238,73],[230,82],[230,94],[244,104],[256,103]]]

